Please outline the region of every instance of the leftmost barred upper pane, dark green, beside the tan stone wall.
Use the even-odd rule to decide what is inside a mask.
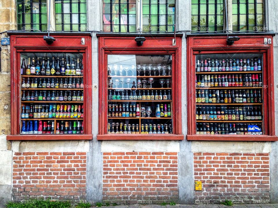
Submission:
[[[46,0],[17,0],[19,30],[47,30]]]

